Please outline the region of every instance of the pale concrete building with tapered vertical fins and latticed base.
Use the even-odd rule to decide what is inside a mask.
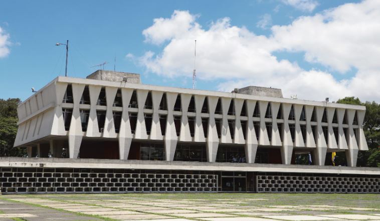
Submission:
[[[287,99],[282,97],[280,89],[253,86],[226,93],[145,85],[141,84],[138,74],[132,73],[99,70],[87,79],[57,77],[20,104],[18,114],[15,146],[28,148],[29,157],[40,157],[37,158],[40,161],[23,159],[29,164],[23,164],[21,160],[18,165],[26,167],[33,166],[32,162],[40,162],[46,166],[41,157],[53,157],[53,161],[67,157],[73,159],[69,166],[73,171],[75,168],[133,167],[140,170],[135,175],[137,177],[157,174],[159,170],[161,175],[167,173],[177,178],[180,174],[186,177],[191,173],[193,175],[185,182],[195,183],[196,186],[191,186],[194,191],[243,191],[243,186],[236,187],[231,177],[239,180],[243,177],[240,172],[244,171],[244,191],[318,192],[322,191],[318,189],[327,187],[315,187],[313,191],[302,187],[283,187],[292,180],[287,179],[286,174],[311,169],[309,172],[320,175],[306,174],[307,177],[327,177],[323,174],[331,172],[340,177],[336,168],[325,166],[328,165],[326,158],[330,156],[331,159],[329,153],[344,152],[346,164],[354,167],[358,151],[368,150],[361,126],[364,106]],[[298,163],[299,156],[305,154],[311,156],[314,166],[290,165]],[[84,158],[99,159],[88,159],[93,163],[113,159],[114,164],[112,167],[107,167],[110,164],[89,166],[87,161],[83,161]],[[157,171],[154,166],[145,166],[152,163],[157,166]],[[54,167],[53,164],[49,165]],[[216,174],[211,169],[215,166],[220,173]],[[61,167],[68,165],[62,164]],[[339,174],[349,174],[352,179],[361,177],[364,182],[365,173],[349,167],[341,167]],[[10,168],[3,169],[8,171]],[[54,167],[56,169],[59,168]],[[199,177],[194,177],[194,171],[198,171]],[[224,181],[223,173],[226,171],[229,175],[225,174],[224,177],[230,178]],[[133,172],[121,173],[132,176]],[[281,180],[278,177],[275,179],[272,173],[282,177],[284,185],[259,187],[268,180]],[[202,174],[206,174],[204,178],[200,178]],[[374,179],[372,187],[380,184],[375,183],[379,174],[378,170],[370,170],[367,174]],[[259,181],[263,177],[267,181]],[[294,177],[298,179],[297,175]],[[181,182],[172,184],[169,181],[163,182],[173,185],[172,189],[167,187],[170,190],[193,191],[189,189],[191,187],[181,189],[177,185]],[[139,180],[139,183],[144,182]],[[205,183],[212,183],[211,188],[197,187]],[[135,184],[138,187],[133,191],[143,191],[145,184],[140,184]],[[78,185],[81,185],[80,182]],[[250,189],[248,186],[251,186]],[[38,191],[38,187],[31,188]],[[58,187],[52,188],[52,191],[58,191]],[[68,188],[64,191],[70,191],[73,187]],[[120,191],[127,191],[125,188]],[[150,186],[149,191],[168,191],[167,188],[163,190],[159,186]],[[103,191],[101,189],[87,191]],[[323,191],[337,192],[331,189]],[[357,189],[360,188],[352,191],[359,191]],[[365,185],[361,189],[365,189]],[[25,191],[29,192],[28,188]],[[108,188],[107,191],[112,190]]]

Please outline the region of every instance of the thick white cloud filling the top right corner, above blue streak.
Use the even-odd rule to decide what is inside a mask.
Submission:
[[[340,72],[380,68],[380,1],[345,4],[272,31],[286,50],[306,52],[308,62]]]

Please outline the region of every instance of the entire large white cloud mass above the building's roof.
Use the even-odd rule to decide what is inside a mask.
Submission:
[[[380,62],[376,62],[380,58],[379,4],[375,0],[345,4],[300,17],[288,26],[272,27],[270,37],[232,26],[229,18],[204,29],[196,16],[175,11],[170,19],[156,19],[144,30],[146,41],[167,44],[158,54],[146,52],[138,62],[164,77],[191,78],[197,40],[197,77],[224,81],[217,86],[219,90],[256,85],[281,88],[285,97],[297,94],[302,99],[336,100],[359,96],[362,100],[380,101]],[[172,24],[185,20],[187,24],[180,23],[178,29],[186,28],[178,33]],[[163,37],[159,30],[173,31]],[[325,71],[304,70],[297,63],[279,60],[273,55],[279,51],[304,52],[306,61],[341,72],[339,79],[343,80]],[[344,78],[352,67],[357,73]]]

